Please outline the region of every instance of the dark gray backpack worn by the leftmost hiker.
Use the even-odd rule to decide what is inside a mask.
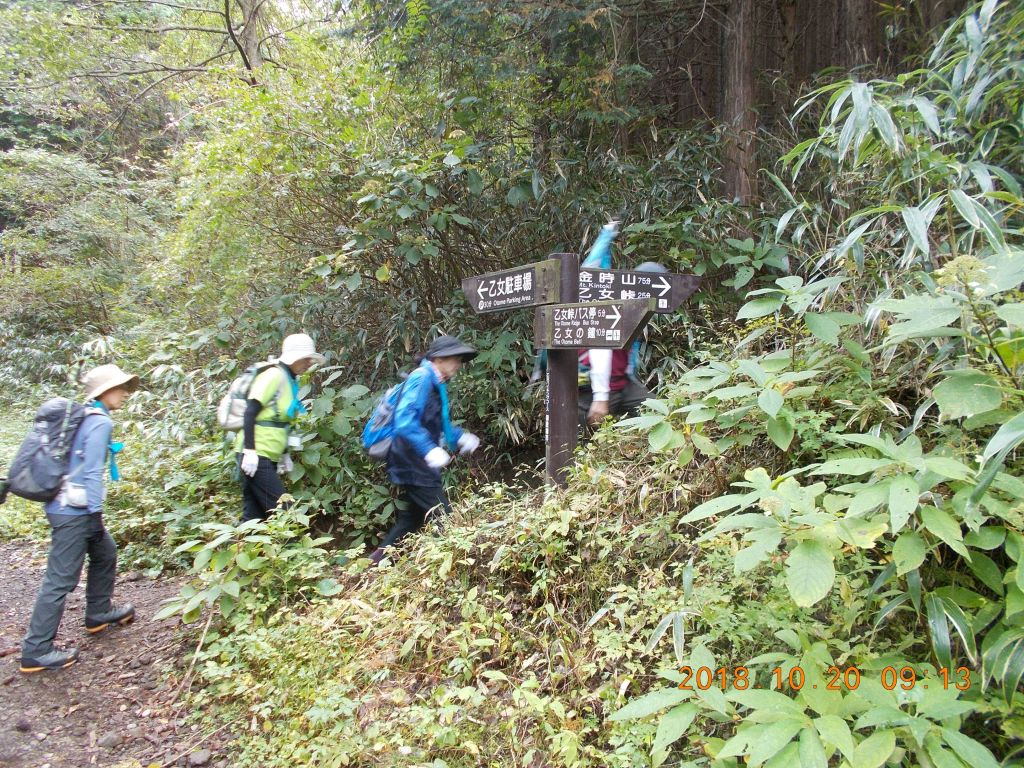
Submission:
[[[85,417],[92,413],[96,410],[65,397],[40,406],[32,431],[10,463],[10,493],[32,502],[56,499],[68,476],[72,441]]]

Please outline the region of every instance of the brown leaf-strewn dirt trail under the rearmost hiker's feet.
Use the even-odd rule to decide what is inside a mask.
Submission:
[[[177,592],[177,580],[119,574],[115,598],[134,603],[137,617],[90,636],[83,624],[83,574],[57,635],[59,646],[78,646],[79,663],[58,672],[18,672],[22,636],[45,565],[42,547],[0,543],[0,766],[227,766],[223,734],[204,740],[206,734],[185,725],[187,713],[174,702],[176,686],[162,680],[190,652],[175,638],[175,621],[151,618]]]

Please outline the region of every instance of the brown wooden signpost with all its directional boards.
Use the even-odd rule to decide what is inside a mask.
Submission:
[[[654,312],[672,312],[700,285],[691,274],[581,269],[574,253],[462,282],[475,312],[535,306],[534,343],[548,350],[548,481],[564,484],[579,431],[579,350],[625,349]],[[556,303],[557,302],[557,303]],[[582,303],[581,303],[582,302]]]

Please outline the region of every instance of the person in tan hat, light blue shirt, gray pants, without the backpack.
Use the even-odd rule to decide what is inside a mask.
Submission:
[[[102,513],[106,499],[103,475],[109,465],[112,479],[118,479],[116,456],[121,450],[120,442],[111,442],[114,422],[110,414],[121,408],[138,385],[137,376],[117,366],[99,366],[85,376],[89,411],[72,441],[63,489],[44,507],[51,529],[50,552],[29,632],[22,643],[22,672],[59,670],[78,660],[77,648],[55,649],[53,638],[63,616],[65,600],[82,578],[86,556],[86,631],[95,634],[113,624],[129,624],[135,617],[131,603],[115,605],[111,599],[118,548],[103,527]]]

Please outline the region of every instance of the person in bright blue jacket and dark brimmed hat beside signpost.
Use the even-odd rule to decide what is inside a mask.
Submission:
[[[452,511],[441,469],[452,461],[444,450],[472,454],[480,438],[454,426],[449,416],[447,382],[476,350],[455,336],[441,336],[427,349],[420,366],[409,375],[394,413],[394,435],[388,454],[388,477],[401,492],[403,508],[381,546],[370,555],[380,562],[388,547],[423,527],[427,515]]]

